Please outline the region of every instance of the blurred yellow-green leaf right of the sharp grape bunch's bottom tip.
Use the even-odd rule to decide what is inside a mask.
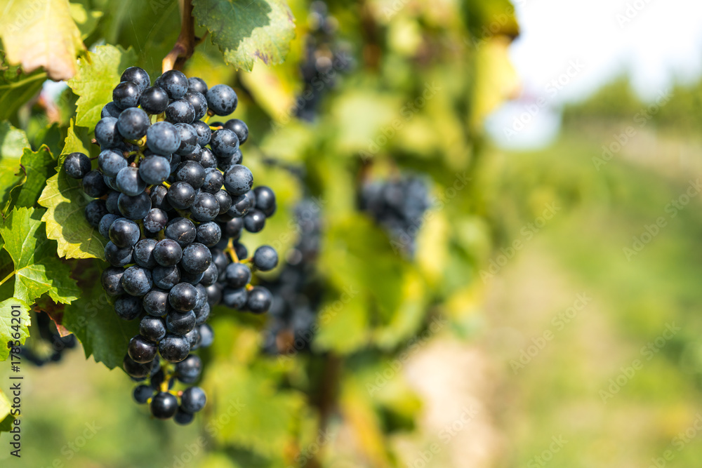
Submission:
[[[218,401],[209,415],[220,442],[275,455],[290,442],[304,399],[298,392],[278,389],[270,370],[216,361],[203,383],[208,398]]]

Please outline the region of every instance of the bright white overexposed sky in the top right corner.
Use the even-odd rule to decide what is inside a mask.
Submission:
[[[489,119],[502,146],[548,144],[564,102],[587,98],[624,72],[642,98],[652,99],[702,71],[702,0],[512,1],[522,35],[511,57],[523,93]],[[554,79],[562,85],[549,86]],[[545,105],[536,111],[538,98]],[[529,120],[524,128],[515,122],[520,116]]]

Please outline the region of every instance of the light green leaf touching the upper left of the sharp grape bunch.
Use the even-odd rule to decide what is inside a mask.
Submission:
[[[76,102],[76,125],[95,128],[100,112],[112,101],[112,90],[119,83],[124,69],[131,67],[136,55],[117,46],[98,46],[95,52],[78,60],[78,72],[68,81],[68,86],[79,95]]]

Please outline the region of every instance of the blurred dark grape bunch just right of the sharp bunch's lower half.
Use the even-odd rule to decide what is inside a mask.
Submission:
[[[322,238],[320,214],[319,205],[312,199],[296,206],[298,243],[288,252],[277,279],[265,282],[273,295],[263,332],[263,351],[267,354],[292,354],[310,347],[322,301],[322,283],[316,267]]]

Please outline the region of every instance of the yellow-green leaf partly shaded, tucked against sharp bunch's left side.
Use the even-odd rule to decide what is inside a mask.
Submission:
[[[58,159],[58,174],[46,181],[39,204],[46,208],[41,218],[46,222],[46,236],[58,242],[58,255],[65,258],[105,259],[107,241],[100,236],[85,219],[84,210],[91,197],[83,192],[81,182],[69,178],[61,166],[65,155],[71,152],[88,154],[86,133],[75,128],[73,122],[68,129],[63,154]]]

